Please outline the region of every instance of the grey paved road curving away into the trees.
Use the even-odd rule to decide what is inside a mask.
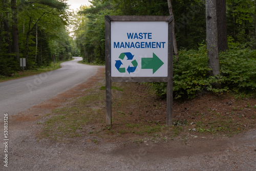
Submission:
[[[69,90],[94,75],[97,66],[78,63],[81,57],[61,63],[58,70],[0,82],[0,122],[5,113],[14,115],[58,93]]]

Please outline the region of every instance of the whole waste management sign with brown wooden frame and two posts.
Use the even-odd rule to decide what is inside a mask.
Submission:
[[[173,113],[173,16],[105,16],[106,124],[111,82],[167,82],[167,125]]]

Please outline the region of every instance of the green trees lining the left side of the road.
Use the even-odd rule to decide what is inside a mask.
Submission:
[[[62,0],[17,0],[18,51],[20,58],[27,58],[27,69],[49,66],[52,54],[58,60],[71,57],[68,31],[67,4]],[[15,24],[10,0],[0,3],[0,75],[10,76],[19,70],[15,57],[12,30]],[[54,45],[54,46],[53,46]],[[15,45],[16,46],[16,45]],[[9,48],[10,47],[10,48]],[[16,46],[17,47],[17,46]],[[9,50],[8,50],[9,48]]]

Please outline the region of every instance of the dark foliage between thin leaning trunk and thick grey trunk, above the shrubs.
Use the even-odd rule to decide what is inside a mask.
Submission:
[[[205,5],[202,1],[172,1],[178,47],[198,48],[205,40]]]

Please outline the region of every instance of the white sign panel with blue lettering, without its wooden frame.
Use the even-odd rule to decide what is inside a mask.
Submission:
[[[112,77],[167,77],[167,71],[168,22],[111,22]]]

